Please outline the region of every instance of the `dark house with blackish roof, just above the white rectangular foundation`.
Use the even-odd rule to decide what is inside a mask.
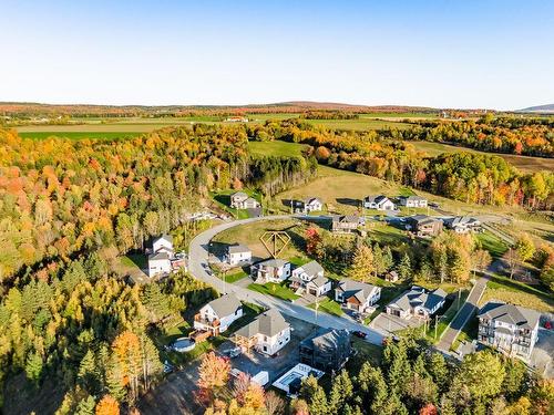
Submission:
[[[324,372],[339,371],[351,354],[350,333],[320,328],[300,342],[299,353],[300,363]]]

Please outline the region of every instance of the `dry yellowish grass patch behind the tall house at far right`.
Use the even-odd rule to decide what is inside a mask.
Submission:
[[[480,300],[480,305],[491,300],[510,302],[533,310],[554,312],[554,295],[543,287],[530,286],[495,276],[486,283],[486,290]]]

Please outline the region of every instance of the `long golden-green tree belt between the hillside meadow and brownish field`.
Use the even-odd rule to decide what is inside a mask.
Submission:
[[[288,120],[248,127],[253,139],[309,144],[319,163],[483,205],[552,207],[554,173],[519,173],[503,158],[472,153],[428,157],[390,131],[341,132]],[[399,132],[392,132],[394,136]]]

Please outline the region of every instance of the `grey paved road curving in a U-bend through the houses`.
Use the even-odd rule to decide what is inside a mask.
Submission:
[[[232,283],[225,283],[219,278],[207,272],[208,268],[208,248],[209,241],[219,232],[245,224],[250,224],[258,220],[273,220],[273,219],[289,219],[291,217],[302,218],[302,216],[284,215],[284,216],[266,216],[260,218],[250,218],[243,220],[234,220],[232,222],[218,225],[211,228],[201,235],[196,236],[191,241],[188,249],[188,271],[192,276],[213,286],[217,291],[230,293],[233,292],[239,300],[256,303],[265,307],[266,309],[277,309],[285,315],[290,315],[299,320],[307,321],[324,328],[334,329],[348,329],[350,331],[361,331],[367,334],[366,340],[370,343],[381,345],[383,333],[370,329],[363,324],[356,322],[348,315],[335,317],[325,312],[318,312],[316,315],[315,310],[308,309],[302,305],[294,304],[288,301],[277,299],[275,297],[265,295],[263,293],[248,290]],[[314,219],[314,217],[310,217]]]

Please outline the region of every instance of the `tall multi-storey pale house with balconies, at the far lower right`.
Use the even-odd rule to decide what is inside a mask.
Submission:
[[[538,336],[541,314],[502,302],[488,302],[478,314],[478,341],[510,356],[529,360]]]

